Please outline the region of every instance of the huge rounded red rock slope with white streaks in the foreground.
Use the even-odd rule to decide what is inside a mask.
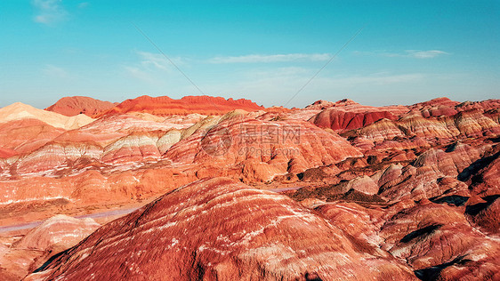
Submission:
[[[197,181],[112,221],[28,280],[415,280],[329,221],[270,191]]]

